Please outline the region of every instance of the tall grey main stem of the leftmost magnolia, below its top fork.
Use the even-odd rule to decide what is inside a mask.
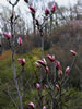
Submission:
[[[12,53],[12,69],[13,69],[13,76],[14,76],[14,84],[17,90],[17,96],[19,96],[19,102],[20,102],[20,109],[23,109],[22,105],[22,96],[19,89],[19,84],[16,80],[16,70],[15,70],[15,59],[14,59],[14,17],[13,17],[13,12],[14,12],[14,7],[12,5],[12,16],[11,16],[11,53]]]

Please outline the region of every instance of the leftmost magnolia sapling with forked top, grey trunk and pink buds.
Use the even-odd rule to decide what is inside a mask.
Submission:
[[[9,40],[9,45],[10,45],[10,49],[11,49],[11,55],[12,55],[12,69],[13,69],[13,78],[14,78],[14,84],[15,84],[15,88],[16,88],[16,92],[17,92],[17,96],[19,96],[19,104],[20,104],[20,109],[23,109],[23,105],[22,105],[22,95],[20,93],[20,89],[19,89],[19,84],[17,84],[17,80],[16,80],[16,70],[15,70],[15,58],[14,58],[14,52],[15,52],[15,49],[14,49],[14,7],[19,3],[20,0],[16,0],[14,3],[12,3],[11,1],[8,1],[11,5],[12,5],[12,15],[10,17],[11,20],[11,35],[9,33],[3,33],[3,35],[8,38]],[[19,38],[17,40],[19,45],[22,44],[22,39]],[[20,60],[19,60],[20,61]],[[19,109],[16,102],[13,100],[13,97],[9,94],[8,92],[8,95],[10,96],[10,98],[12,99],[14,106]]]

